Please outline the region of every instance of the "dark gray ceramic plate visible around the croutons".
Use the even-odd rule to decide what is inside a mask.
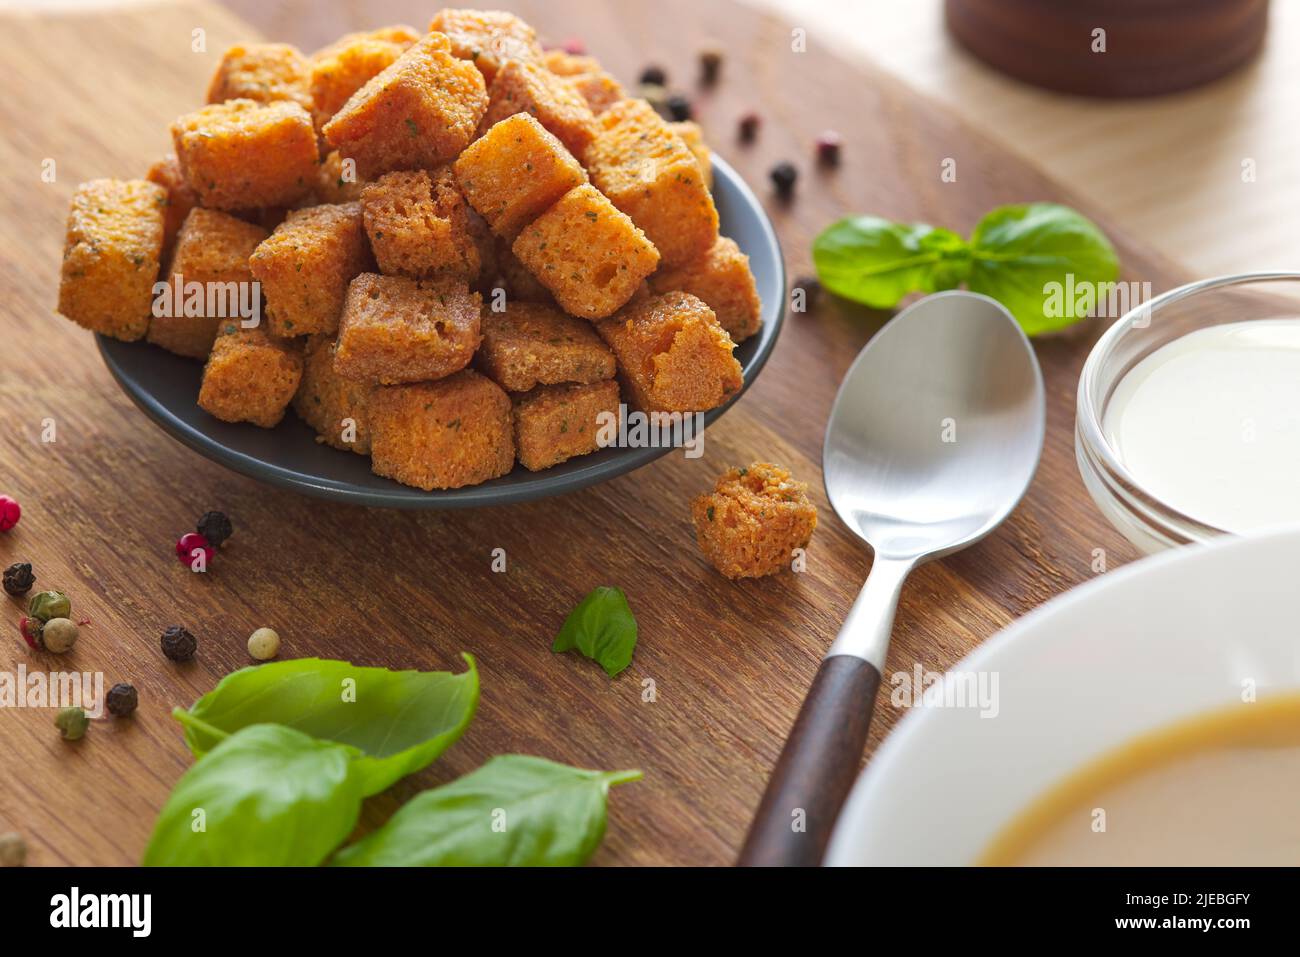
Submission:
[[[763,326],[736,348],[749,387],[771,355],[785,313],[785,269],[772,224],[740,176],[714,159],[714,199],[722,231],[749,256],[763,300]],[[118,342],[98,335],[104,364],[146,415],[173,438],[235,472],[287,489],[354,505],[389,508],[468,508],[526,502],[559,495],[612,478],[653,462],[668,449],[602,449],[569,459],[545,472],[519,465],[482,485],[448,492],[421,492],[381,478],[363,455],[316,442],[315,433],[292,412],[274,429],[213,419],[195,402],[203,367],[146,342]],[[741,390],[744,393],[744,389]],[[732,403],[740,398],[737,394]],[[712,423],[731,403],[705,416]]]

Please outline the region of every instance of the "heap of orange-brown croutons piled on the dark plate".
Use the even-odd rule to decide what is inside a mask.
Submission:
[[[172,135],[146,179],[78,189],[58,311],[204,360],[217,419],[291,404],[377,475],[452,489],[595,451],[620,402],[742,385],[759,299],[699,129],[512,14],[231,47]],[[248,289],[256,325],[228,308]]]

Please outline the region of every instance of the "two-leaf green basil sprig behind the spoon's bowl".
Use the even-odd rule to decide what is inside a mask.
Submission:
[[[850,216],[827,226],[812,243],[822,285],[878,309],[911,293],[961,283],[1001,302],[1030,335],[1054,332],[1083,316],[1050,315],[1049,302],[1072,277],[1074,287],[1100,286],[1119,276],[1119,259],[1105,233],[1057,203],[1022,203],[989,212],[970,241],[924,224]],[[1060,283],[1053,299],[1052,285]],[[1100,298],[1100,295],[1098,295]]]

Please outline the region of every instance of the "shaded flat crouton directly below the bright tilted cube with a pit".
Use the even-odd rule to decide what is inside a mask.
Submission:
[[[614,352],[592,324],[537,303],[484,309],[478,368],[506,391],[612,378]]]

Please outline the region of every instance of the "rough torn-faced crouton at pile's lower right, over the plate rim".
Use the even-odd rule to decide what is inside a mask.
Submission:
[[[644,412],[705,412],[744,385],[727,330],[686,293],[644,299],[595,328],[619,361],[624,397]]]

